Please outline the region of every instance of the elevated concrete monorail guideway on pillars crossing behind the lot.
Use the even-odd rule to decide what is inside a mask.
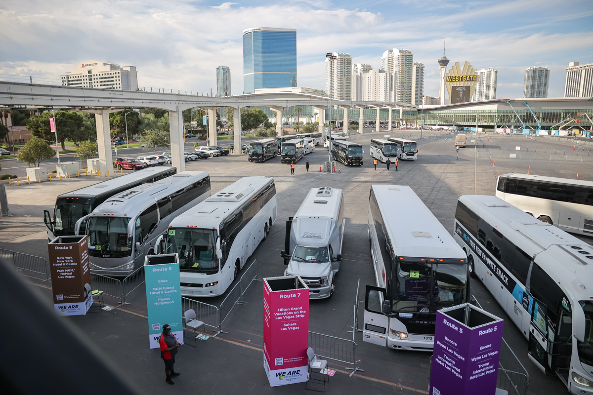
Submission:
[[[192,92],[193,93],[193,92]],[[109,114],[125,108],[161,108],[169,111],[169,127],[171,133],[171,156],[173,166],[177,171],[184,171],[183,160],[183,110],[192,107],[208,108],[208,130],[210,142],[216,141],[216,114],[219,107],[232,107],[234,115],[234,144],[241,146],[241,108],[242,107],[270,107],[276,112],[276,128],[278,135],[283,134],[282,111],[294,105],[311,105],[327,111],[329,98],[295,93],[265,93],[248,94],[231,97],[211,97],[187,94],[187,91],[177,92],[144,92],[144,91],[116,91],[113,89],[75,88],[73,86],[21,84],[17,82],[0,81],[0,108],[46,108],[52,110],[85,111],[95,114],[97,123],[97,146],[99,153],[99,168],[107,174],[111,171],[113,156],[109,133]],[[380,107],[416,108],[415,105],[396,102],[357,102],[335,100],[340,107],[362,108],[372,106],[377,111]],[[280,120],[280,121],[278,121]],[[59,127],[59,119],[58,119]],[[320,123],[320,132],[323,122]],[[241,155],[238,150],[237,155]]]

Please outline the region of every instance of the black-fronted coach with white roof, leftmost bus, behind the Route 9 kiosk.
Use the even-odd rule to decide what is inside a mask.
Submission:
[[[53,221],[49,211],[43,210],[47,239],[52,241],[58,236],[74,236],[76,221],[90,214],[111,196],[176,173],[177,168],[171,167],[142,169],[59,195],[56,198],[56,206],[53,208]],[[85,233],[84,229],[82,233]]]

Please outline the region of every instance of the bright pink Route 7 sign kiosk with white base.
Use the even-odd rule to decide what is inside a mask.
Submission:
[[[309,288],[298,276],[263,279],[263,366],[271,387],[307,381]]]

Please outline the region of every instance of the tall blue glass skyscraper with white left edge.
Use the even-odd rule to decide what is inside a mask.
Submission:
[[[297,86],[297,31],[255,27],[243,31],[243,91]]]

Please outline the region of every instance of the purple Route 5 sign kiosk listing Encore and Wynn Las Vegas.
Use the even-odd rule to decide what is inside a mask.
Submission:
[[[436,312],[431,395],[494,395],[503,320],[461,304]]]

